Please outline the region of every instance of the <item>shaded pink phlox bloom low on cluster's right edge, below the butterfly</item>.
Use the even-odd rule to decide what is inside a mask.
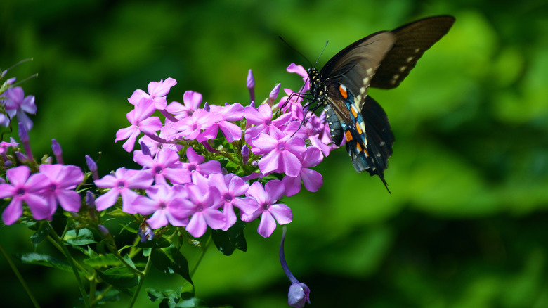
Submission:
[[[301,191],[301,180],[307,191],[318,191],[323,184],[322,174],[310,169],[322,162],[322,152],[318,148],[307,148],[306,152],[299,153],[299,158],[303,164],[301,172],[296,177],[286,176],[282,179],[285,185],[285,195],[288,197]]]

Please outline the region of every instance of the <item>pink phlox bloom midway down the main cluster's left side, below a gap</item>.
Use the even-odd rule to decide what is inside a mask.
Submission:
[[[154,176],[155,184],[167,184],[166,179],[171,184],[190,183],[190,172],[183,169],[179,155],[171,148],[159,150],[154,158],[136,150],[133,152],[133,160]]]

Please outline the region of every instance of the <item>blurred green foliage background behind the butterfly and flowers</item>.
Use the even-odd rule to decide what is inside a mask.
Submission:
[[[258,99],[278,82],[301,86],[285,68],[306,62],[279,35],[311,59],[329,40],[321,67],[367,34],[439,14],[457,18],[449,34],[397,89],[370,90],[396,136],[386,171],[392,194],[356,174],[344,150],[333,152],[316,168],[320,191],[285,200],[294,211],[287,262],[311,288],[313,307],[548,307],[544,0],[2,0],[0,66],[34,58],[8,77],[39,73],[22,85],[39,108],[35,155],[51,153],[56,138],[65,163],[84,166],[84,155],[101,152],[106,174],[135,166],[113,141],[128,125],[126,98],[150,81],[178,81],[169,101],[191,89],[209,103],[248,103],[250,68]],[[197,297],[287,306],[281,228],[263,239],[256,226],[247,228],[248,252],[208,251],[194,277]],[[11,254],[32,252],[29,236],[22,226],[0,229]],[[77,305],[71,274],[20,269],[43,307]],[[2,307],[29,307],[4,258],[0,276]],[[145,288],[180,283],[152,275]],[[143,293],[137,306],[156,304]]]

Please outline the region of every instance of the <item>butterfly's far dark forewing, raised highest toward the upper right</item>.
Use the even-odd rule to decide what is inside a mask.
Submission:
[[[417,20],[392,30],[396,41],[381,61],[370,86],[379,89],[396,88],[409,75],[410,70],[415,68],[424,51],[447,34],[453,23],[454,17],[441,15]]]

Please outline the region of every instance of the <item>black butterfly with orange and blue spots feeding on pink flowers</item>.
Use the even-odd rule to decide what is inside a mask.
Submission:
[[[377,174],[386,189],[384,170],[394,135],[386,113],[367,95],[367,88],[398,86],[454,22],[452,16],[442,15],[377,32],[339,51],[320,72],[308,70],[311,103],[325,107],[332,141],[340,145],[344,136],[356,171]]]

